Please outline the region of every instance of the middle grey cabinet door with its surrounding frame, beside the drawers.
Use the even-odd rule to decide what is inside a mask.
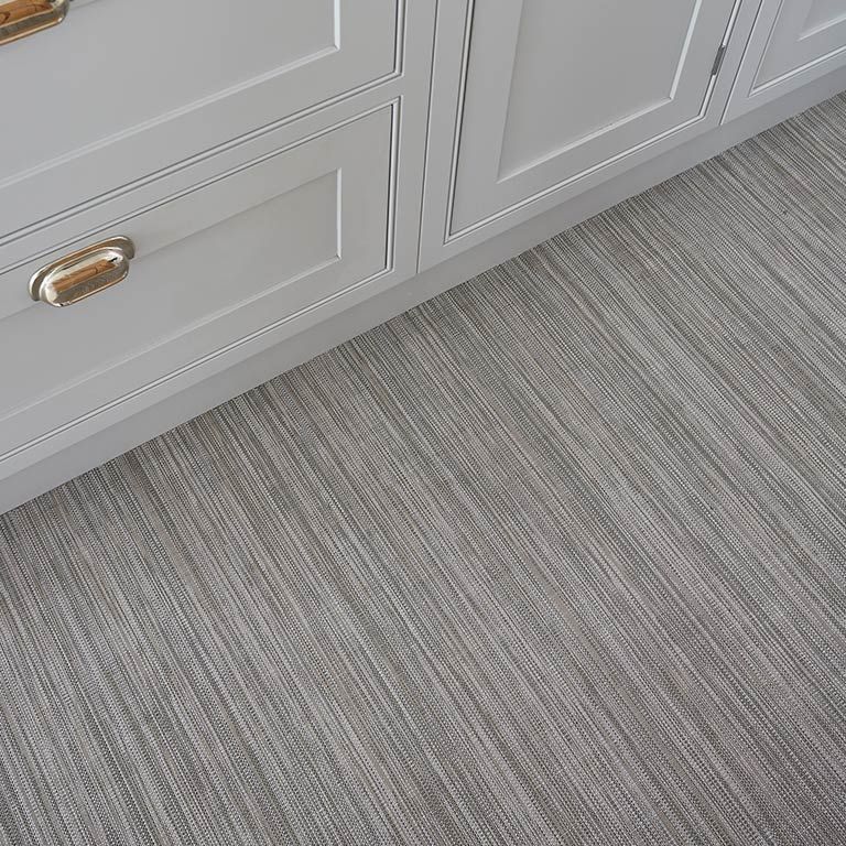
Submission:
[[[457,251],[457,239],[463,248],[479,230],[505,228],[491,227],[503,216],[513,225],[544,210],[541,200],[551,207],[719,122],[727,93],[713,102],[716,59],[736,0],[448,6],[438,19],[424,264]],[[460,79],[453,104],[447,77]]]

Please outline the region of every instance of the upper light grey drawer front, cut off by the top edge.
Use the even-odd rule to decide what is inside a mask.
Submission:
[[[395,72],[399,0],[74,0],[0,45],[0,245]]]

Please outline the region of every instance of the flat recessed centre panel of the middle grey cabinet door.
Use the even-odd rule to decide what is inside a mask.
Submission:
[[[648,2],[648,4],[650,4]],[[665,6],[652,0],[658,9]],[[523,7],[506,111],[499,178],[589,143],[627,123],[648,123],[673,100],[685,57],[695,0],[666,9],[662,37],[642,4],[612,0],[579,12],[572,25],[568,3],[531,0]],[[653,9],[653,11],[654,11]],[[653,48],[643,44],[654,41]],[[634,73],[621,73],[634,68]],[[583,82],[590,80],[590,96]],[[573,84],[578,82],[578,84]]]

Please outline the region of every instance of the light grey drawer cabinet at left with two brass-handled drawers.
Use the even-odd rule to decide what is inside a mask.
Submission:
[[[334,346],[417,263],[434,2],[45,6],[0,0],[0,512]],[[31,299],[45,267],[68,307]]]

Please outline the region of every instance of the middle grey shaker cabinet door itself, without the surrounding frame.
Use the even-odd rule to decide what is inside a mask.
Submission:
[[[452,232],[698,121],[735,0],[476,0]]]

